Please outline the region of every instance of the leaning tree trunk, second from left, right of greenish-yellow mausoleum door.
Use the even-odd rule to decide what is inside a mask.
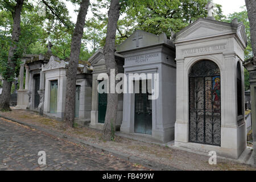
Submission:
[[[65,127],[73,127],[75,118],[75,96],[76,96],[76,73],[79,63],[81,40],[84,33],[85,16],[87,14],[89,0],[82,0],[79,14],[77,15],[76,27],[71,42],[71,54],[67,70],[67,86],[65,97],[64,123]]]

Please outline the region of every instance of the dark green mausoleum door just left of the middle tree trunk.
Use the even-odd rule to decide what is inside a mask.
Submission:
[[[102,89],[104,89],[104,86],[102,87]],[[107,104],[108,93],[98,93],[98,123],[105,123]]]

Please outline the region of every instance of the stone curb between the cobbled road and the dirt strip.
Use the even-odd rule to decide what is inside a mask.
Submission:
[[[90,143],[90,142],[87,142],[85,140],[82,140],[82,139],[79,139],[79,138],[76,138],[76,137],[71,137],[71,136],[68,136],[68,135],[65,135],[65,134],[61,134],[61,133],[59,133],[57,131],[53,131],[51,129],[46,129],[44,127],[40,127],[40,126],[32,125],[30,123],[19,121],[18,119],[5,117],[1,114],[0,114],[0,117],[8,119],[8,120],[16,122],[16,123],[19,123],[21,125],[31,127],[32,129],[43,131],[44,133],[51,134],[54,137],[69,140],[69,142],[89,146],[89,147],[93,148],[94,150],[96,150],[98,152],[109,152],[109,154],[112,154],[116,158],[127,160],[130,163],[141,164],[144,167],[151,168],[151,169],[156,170],[156,171],[181,171],[181,169],[178,169],[178,168],[175,168],[175,167],[170,167],[170,166],[166,166],[164,164],[152,162],[152,161],[147,160],[147,159],[138,158],[137,156],[123,154],[122,152],[115,151],[111,148],[100,146],[100,145],[94,144],[94,143]]]

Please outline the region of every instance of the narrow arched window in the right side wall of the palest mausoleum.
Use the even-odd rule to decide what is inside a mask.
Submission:
[[[242,115],[242,74],[239,62],[237,62],[237,114]]]

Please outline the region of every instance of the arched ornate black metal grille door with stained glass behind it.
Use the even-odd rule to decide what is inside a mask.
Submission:
[[[189,142],[221,145],[220,69],[197,62],[189,73]]]

